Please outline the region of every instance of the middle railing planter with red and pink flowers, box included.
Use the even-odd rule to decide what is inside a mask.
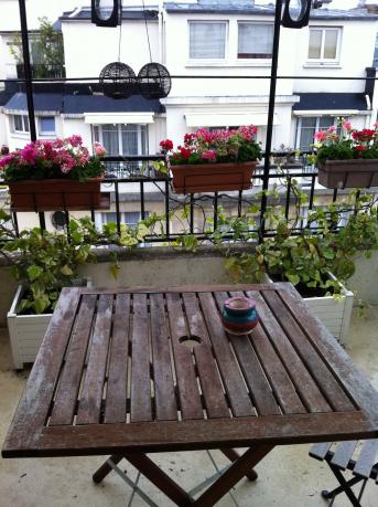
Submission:
[[[166,155],[176,193],[245,190],[252,186],[251,177],[261,149],[256,142],[253,125],[237,130],[207,130],[186,134],[183,146],[173,149],[170,139],[160,142]]]

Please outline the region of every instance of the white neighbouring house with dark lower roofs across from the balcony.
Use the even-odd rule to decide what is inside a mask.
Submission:
[[[17,6],[15,1],[8,3]],[[192,0],[147,3],[144,13],[141,6],[130,3],[123,1],[121,29],[91,24],[88,7],[61,15],[66,75],[90,83],[34,86],[39,136],[80,134],[88,146],[102,142],[108,155],[153,155],[165,137],[180,144],[185,133],[199,127],[255,124],[263,144],[274,6],[268,1]],[[376,122],[374,81],[367,82],[366,76],[375,75],[377,25],[378,15],[366,9],[322,8],[312,12],[310,27],[281,29],[278,74],[284,78],[277,83],[273,149],[307,150],[315,131],[336,125],[339,116],[361,128]],[[172,80],[170,95],[160,101],[140,95],[116,101],[101,95],[96,77],[108,63],[118,61],[119,49],[120,61],[136,74],[152,60],[164,64],[171,75],[181,76]],[[1,62],[0,57],[0,73],[4,73]],[[7,68],[9,72],[10,65]],[[309,80],[311,76],[324,78]],[[359,80],[333,81],[330,76]],[[1,127],[0,114],[0,144],[3,135],[13,149],[30,138],[26,97],[18,84],[8,84],[6,93],[0,92],[4,118]],[[121,191],[121,213],[128,222],[140,213],[138,189],[122,186]],[[147,212],[164,210],[156,194],[149,191]],[[114,211],[98,215],[97,223],[110,220]]]

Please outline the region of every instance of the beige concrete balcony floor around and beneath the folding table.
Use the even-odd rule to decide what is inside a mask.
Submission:
[[[365,318],[354,314],[349,331],[348,352],[378,389],[378,307],[370,308]],[[21,395],[29,370],[11,369],[10,349],[6,329],[0,329],[0,442],[2,443],[12,414]],[[326,464],[307,456],[309,445],[277,447],[257,467],[259,479],[251,484],[242,479],[231,495],[218,506],[317,507],[327,505],[320,492],[333,488],[335,480]],[[213,462],[212,462],[212,458]],[[215,465],[226,464],[218,452],[158,454],[160,466],[180,484],[190,489],[215,473]],[[104,457],[69,457],[43,460],[0,460],[0,492],[2,507],[118,507],[144,506],[138,496],[116,474],[100,485],[91,482],[91,473]],[[122,469],[134,479],[136,469],[122,462]],[[162,507],[171,504],[162,494],[141,478],[139,486]],[[378,486],[368,482],[363,498],[364,507],[377,507]],[[335,507],[349,507],[344,497],[337,497]]]

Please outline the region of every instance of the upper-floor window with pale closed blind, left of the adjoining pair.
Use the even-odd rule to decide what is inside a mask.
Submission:
[[[191,60],[226,57],[226,22],[190,21],[188,27]]]

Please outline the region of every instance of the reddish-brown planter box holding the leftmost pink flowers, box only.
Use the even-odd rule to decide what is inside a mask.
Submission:
[[[100,205],[102,178],[9,182],[14,211],[88,210]]]

